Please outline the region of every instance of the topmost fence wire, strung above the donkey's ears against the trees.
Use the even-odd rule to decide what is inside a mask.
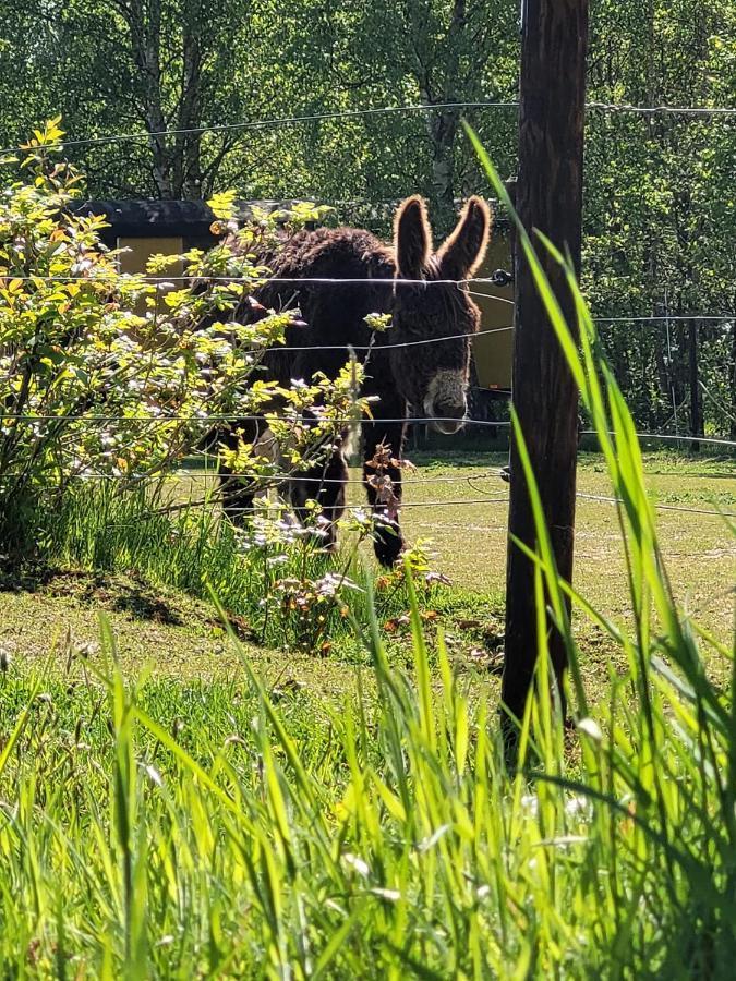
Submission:
[[[374,106],[365,109],[336,109],[324,112],[309,112],[298,116],[280,116],[269,119],[243,120],[233,123],[213,123],[202,126],[186,126],[170,130],[146,130],[135,133],[116,133],[104,136],[86,136],[80,140],[67,140],[64,147],[99,146],[102,144],[124,143],[129,141],[152,140],[159,136],[191,136],[204,133],[230,133],[248,130],[276,129],[278,126],[301,125],[304,123],[327,122],[331,120],[360,119],[396,113],[442,112],[448,109],[518,109],[518,100],[510,101],[450,101],[450,102],[413,102],[405,106]],[[587,109],[596,112],[631,113],[635,116],[683,116],[701,119],[731,118],[736,116],[736,108],[731,106],[635,106],[631,102],[590,101]],[[5,147],[0,154],[14,153],[20,145]]]

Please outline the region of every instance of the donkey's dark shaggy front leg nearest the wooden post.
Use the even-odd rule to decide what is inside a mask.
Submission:
[[[382,566],[393,566],[403,548],[399,525],[401,471],[388,460],[401,459],[406,423],[363,423],[363,483],[374,513],[374,550]],[[388,481],[386,481],[388,477]]]

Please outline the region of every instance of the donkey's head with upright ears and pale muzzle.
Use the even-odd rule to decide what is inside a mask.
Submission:
[[[431,343],[393,349],[394,379],[414,410],[435,419],[442,433],[457,432],[466,415],[470,338],[480,311],[460,281],[483,262],[490,232],[491,213],[480,197],[467,202],[437,252],[421,197],[407,198],[396,213],[391,340]]]

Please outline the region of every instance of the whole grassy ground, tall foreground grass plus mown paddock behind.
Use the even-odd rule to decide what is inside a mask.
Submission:
[[[666,600],[618,678],[623,652],[581,625],[590,715],[565,734],[541,685],[507,770],[488,679],[505,505],[438,504],[505,496],[483,476],[499,460],[420,462],[407,531],[432,529],[455,585],[413,608],[413,640],[381,595],[365,643],[342,630],[315,657],[238,644],[209,603],[140,570],[5,584],[3,976],[731,977],[733,690]],[[660,501],[734,507],[727,462],[645,464]],[[599,458],[580,487],[603,496]],[[676,591],[725,631],[723,519],[664,514]],[[582,499],[579,582],[620,614],[614,521]]]

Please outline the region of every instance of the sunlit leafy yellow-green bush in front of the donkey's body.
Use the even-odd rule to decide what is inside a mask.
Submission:
[[[111,477],[120,493],[160,482],[218,423],[272,413],[280,456],[297,467],[328,443],[336,420],[361,411],[360,365],[336,384],[293,390],[258,374],[293,319],[248,316],[268,276],[257,254],[276,247],[274,219],[260,214],[241,228],[233,195],[218,195],[210,204],[228,235],[177,257],[180,288],[121,275],[100,240],[104,219],[74,213],[81,178],[60,159],[58,122],[2,161],[15,171],[0,196],[2,550],[27,549],[44,511],[83,479]],[[290,222],[313,217],[305,205]],[[299,415],[317,401],[318,424],[306,429]],[[249,475],[275,469],[244,443],[229,452]]]

